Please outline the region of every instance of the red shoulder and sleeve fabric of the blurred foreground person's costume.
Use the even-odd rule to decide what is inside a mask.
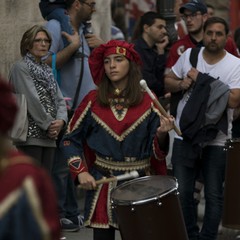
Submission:
[[[11,163],[1,174],[0,201],[9,194],[23,187],[27,178],[32,180],[32,193],[38,199],[43,218],[50,230],[51,239],[59,240],[60,222],[57,209],[57,198],[53,183],[48,173],[31,163],[31,159],[19,152],[12,152],[9,155]]]

